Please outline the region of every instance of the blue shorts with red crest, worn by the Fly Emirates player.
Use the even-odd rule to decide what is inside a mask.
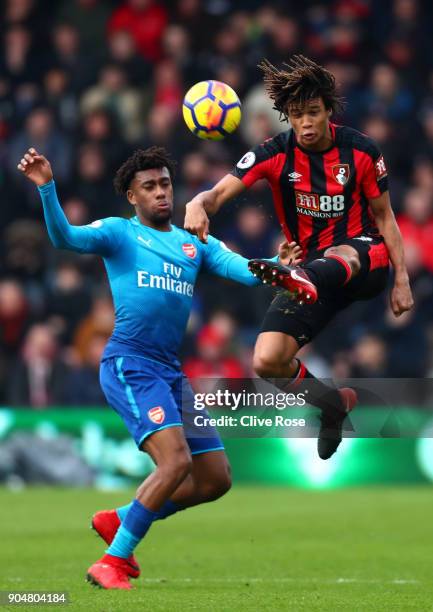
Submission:
[[[144,357],[109,357],[100,367],[107,402],[122,417],[138,448],[155,431],[184,427],[192,455],[224,450],[215,427],[197,428],[194,393],[178,369]]]

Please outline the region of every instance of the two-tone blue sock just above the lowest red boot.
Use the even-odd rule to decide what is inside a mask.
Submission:
[[[130,504],[129,510],[117,530],[114,540],[105,552],[114,557],[127,559],[140,540],[144,538],[157,517],[158,514],[156,512],[148,510],[135,499]]]

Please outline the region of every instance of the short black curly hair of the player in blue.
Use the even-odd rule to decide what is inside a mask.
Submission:
[[[114,177],[114,188],[119,195],[124,195],[131,185],[136,172],[140,170],[152,170],[153,168],[167,168],[170,178],[173,180],[176,162],[171,159],[163,147],[149,147],[148,149],[137,149],[120,166]]]

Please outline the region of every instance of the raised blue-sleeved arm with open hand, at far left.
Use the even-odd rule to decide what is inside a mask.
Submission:
[[[96,221],[92,226],[71,225],[57,197],[51,164],[43,155],[36,149],[29,149],[18,164],[18,170],[39,190],[48,234],[56,248],[100,255],[113,252],[120,239],[119,233],[112,231],[113,220]]]

